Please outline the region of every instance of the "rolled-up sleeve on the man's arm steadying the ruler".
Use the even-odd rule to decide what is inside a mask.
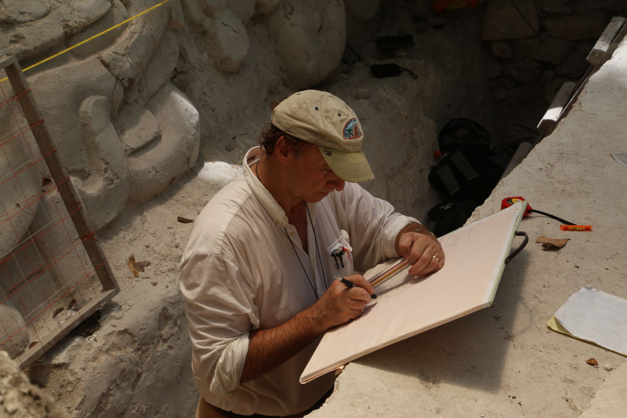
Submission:
[[[356,183],[345,183],[338,193],[349,227],[350,245],[357,271],[366,271],[381,262],[398,257],[396,236],[416,218],[394,212],[394,206],[372,196]]]

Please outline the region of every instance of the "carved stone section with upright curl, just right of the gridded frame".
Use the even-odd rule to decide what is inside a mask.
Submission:
[[[92,225],[106,225],[124,207],[129,177],[110,122],[115,77],[93,56],[34,73],[29,84]]]

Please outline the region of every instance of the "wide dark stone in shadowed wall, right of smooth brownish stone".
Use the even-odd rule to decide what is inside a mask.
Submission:
[[[598,10],[575,13],[561,18],[547,18],[544,26],[547,33],[554,38],[569,40],[596,40],[603,33],[608,18]]]

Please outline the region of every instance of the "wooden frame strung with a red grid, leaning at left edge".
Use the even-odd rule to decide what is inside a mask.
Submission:
[[[0,68],[0,349],[25,368],[119,287],[18,62]]]

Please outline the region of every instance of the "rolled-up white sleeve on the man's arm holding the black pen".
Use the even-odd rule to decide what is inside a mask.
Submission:
[[[233,261],[207,253],[182,264],[180,286],[194,375],[214,394],[231,394],[240,385],[249,333],[259,328],[255,286]]]

